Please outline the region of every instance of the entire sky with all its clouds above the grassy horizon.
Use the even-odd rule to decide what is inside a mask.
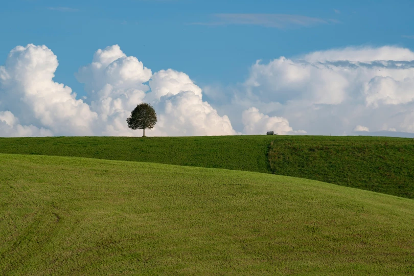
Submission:
[[[414,132],[413,1],[0,7],[0,136],[140,135],[123,126],[139,101],[153,135]]]

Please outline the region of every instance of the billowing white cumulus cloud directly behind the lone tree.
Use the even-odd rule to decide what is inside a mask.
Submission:
[[[80,68],[91,109],[99,114],[104,135],[142,135],[125,122],[141,102],[152,104],[158,123],[149,135],[232,135],[227,116],[219,116],[190,77],[172,69],[152,74],[141,61],[127,57],[118,45],[98,50],[93,62]],[[149,85],[145,83],[149,83]]]

